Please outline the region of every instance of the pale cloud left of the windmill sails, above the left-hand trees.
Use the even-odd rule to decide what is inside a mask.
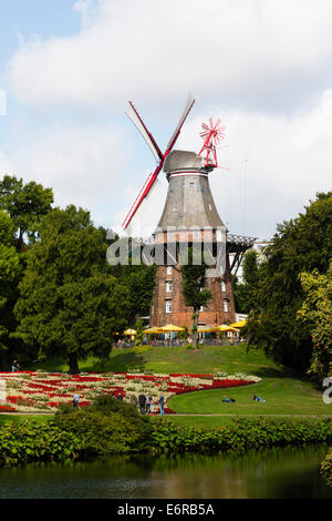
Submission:
[[[34,136],[10,160],[0,153],[0,174],[50,186],[56,206],[75,204],[92,211],[93,218],[105,206],[105,224],[113,218],[118,180],[129,157],[131,147],[122,154],[113,127],[84,129],[70,124],[61,131],[49,130]]]

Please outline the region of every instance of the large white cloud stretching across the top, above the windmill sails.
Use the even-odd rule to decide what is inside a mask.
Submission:
[[[329,0],[113,0],[75,3],[77,34],[21,43],[9,67],[29,104],[116,105],[242,95],[317,74],[332,55]],[[303,82],[303,89],[305,84]]]

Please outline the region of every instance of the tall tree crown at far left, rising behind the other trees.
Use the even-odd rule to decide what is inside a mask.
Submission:
[[[8,212],[14,223],[18,251],[22,248],[24,234],[34,237],[37,224],[51,211],[52,203],[52,188],[44,188],[34,181],[23,184],[22,178],[9,175],[0,181],[0,210]]]

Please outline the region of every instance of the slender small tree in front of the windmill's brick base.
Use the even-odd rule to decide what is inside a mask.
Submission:
[[[204,259],[203,252],[189,247],[180,258],[181,287],[185,305],[193,307],[193,346],[197,346],[197,325],[199,309],[206,306],[212,297],[206,286],[206,270],[209,267]]]

